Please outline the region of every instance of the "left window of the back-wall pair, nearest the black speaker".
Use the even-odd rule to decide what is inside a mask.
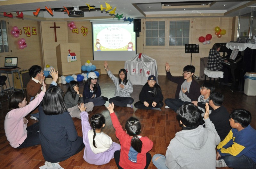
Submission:
[[[165,21],[146,22],[146,46],[165,45]]]

